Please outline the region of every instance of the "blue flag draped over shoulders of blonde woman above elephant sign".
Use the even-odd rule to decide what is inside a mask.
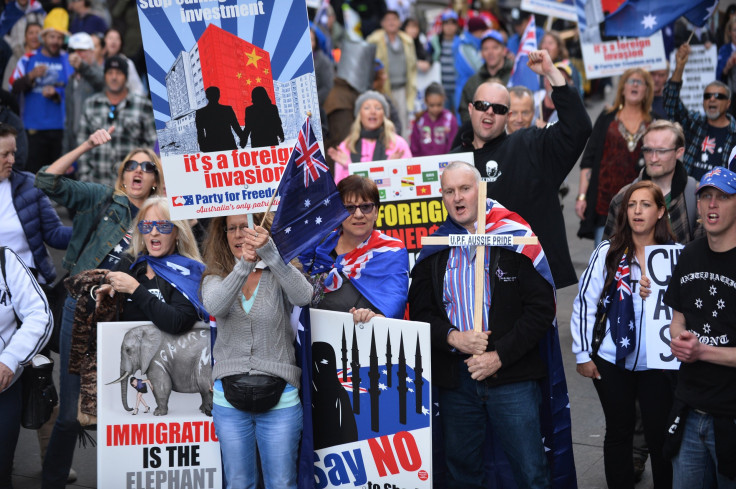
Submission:
[[[200,318],[206,321],[210,317],[199,300],[199,283],[202,281],[202,273],[204,272],[202,263],[177,253],[161,258],[144,253],[138,256],[130,269],[132,270],[134,266],[142,261],[147,262],[156,275],[181,292],[197,309]]]

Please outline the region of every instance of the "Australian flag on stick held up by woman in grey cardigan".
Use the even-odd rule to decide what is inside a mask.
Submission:
[[[287,263],[302,250],[314,247],[349,215],[309,118],[299,131],[277,192],[281,200],[271,237]]]

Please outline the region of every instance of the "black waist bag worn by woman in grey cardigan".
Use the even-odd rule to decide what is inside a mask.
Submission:
[[[278,404],[286,381],[271,375],[237,374],[222,379],[225,399],[241,411],[263,413]]]

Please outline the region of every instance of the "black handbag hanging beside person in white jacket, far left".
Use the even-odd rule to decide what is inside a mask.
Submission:
[[[47,363],[34,366],[38,358]],[[29,430],[37,430],[51,417],[54,406],[59,402],[52,373],[54,361],[43,355],[36,355],[33,362],[23,369],[23,411],[20,424]]]

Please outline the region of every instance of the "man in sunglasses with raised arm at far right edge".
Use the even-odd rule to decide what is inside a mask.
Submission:
[[[689,56],[688,44],[680,46],[675,54],[675,71],[664,87],[664,108],[671,121],[682,124],[687,142],[682,162],[688,174],[700,180],[717,166],[728,167],[728,155],[736,144],[736,120],[728,113],[731,90],[719,81],[705,87],[705,115],[687,110],[680,100],[680,89]]]

